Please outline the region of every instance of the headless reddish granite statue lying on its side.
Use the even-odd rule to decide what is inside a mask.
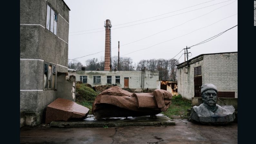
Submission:
[[[92,112],[97,120],[112,117],[154,116],[169,108],[172,93],[154,90],[131,93],[118,86],[102,91],[94,100]]]

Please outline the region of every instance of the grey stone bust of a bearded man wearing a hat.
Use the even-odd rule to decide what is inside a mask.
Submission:
[[[191,120],[210,124],[226,124],[234,121],[235,108],[232,105],[216,104],[218,90],[215,85],[203,84],[201,94],[203,103],[191,108]]]

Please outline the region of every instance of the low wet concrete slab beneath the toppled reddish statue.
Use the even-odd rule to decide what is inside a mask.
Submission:
[[[150,116],[142,117],[120,117],[96,120],[93,115],[88,115],[83,121],[52,121],[50,126],[59,128],[103,128],[103,127],[132,127],[132,126],[170,126],[175,125],[167,116],[157,114],[156,119],[151,119]]]

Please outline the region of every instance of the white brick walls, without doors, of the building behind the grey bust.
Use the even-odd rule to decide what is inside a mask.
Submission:
[[[202,57],[188,69],[178,69],[178,94],[186,99],[194,97],[194,67],[201,66],[202,84],[212,83],[218,91],[235,91],[237,98],[237,53],[206,54],[197,59]]]

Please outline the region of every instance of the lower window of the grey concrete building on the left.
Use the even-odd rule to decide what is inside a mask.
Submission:
[[[55,89],[56,65],[44,63],[44,89]]]

